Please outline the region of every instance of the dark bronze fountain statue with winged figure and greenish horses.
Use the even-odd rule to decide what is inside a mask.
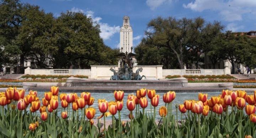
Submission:
[[[116,72],[113,68],[110,68],[110,70],[114,73],[114,75],[111,76],[110,80],[141,80],[143,76],[140,76],[139,72],[142,72],[142,68],[138,68],[138,70],[133,73],[133,64],[132,57],[135,57],[136,54],[132,53],[132,47],[130,53],[123,53],[123,48],[121,49],[121,53],[116,55],[118,57],[121,57],[120,62],[120,68],[118,69],[118,72]],[[145,77],[146,78],[146,77]]]

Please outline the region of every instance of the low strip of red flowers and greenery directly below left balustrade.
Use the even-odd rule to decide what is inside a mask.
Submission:
[[[77,78],[88,78],[88,76],[84,76],[84,75],[29,75],[29,74],[26,74],[26,75],[22,76],[21,78],[42,78],[42,79],[58,78],[58,79],[62,79],[62,78],[69,78],[71,76],[77,77]]]

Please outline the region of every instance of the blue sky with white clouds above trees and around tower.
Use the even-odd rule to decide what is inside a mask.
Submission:
[[[61,12],[83,12],[101,26],[106,45],[117,48],[123,16],[130,17],[133,46],[139,44],[147,23],[158,16],[176,18],[203,17],[220,21],[225,30],[256,30],[256,0],[21,0],[38,5],[58,17]]]

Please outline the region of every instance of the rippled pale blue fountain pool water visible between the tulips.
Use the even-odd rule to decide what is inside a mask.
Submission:
[[[26,94],[28,94],[28,92],[26,92]],[[60,94],[60,93],[59,93]],[[77,93],[78,96],[80,96],[80,93]],[[130,113],[129,110],[126,107],[126,101],[127,101],[127,96],[128,94],[134,94],[134,93],[126,93],[124,92],[124,106],[123,106],[123,110],[121,111],[121,118],[122,119],[128,119],[128,114]],[[164,93],[158,93],[160,94],[160,99],[159,99],[159,105],[158,107],[156,107],[156,118],[160,118],[158,111],[159,108],[161,106],[164,106],[165,103],[162,100],[162,96],[164,95]],[[208,99],[211,96],[218,96],[219,94],[221,94],[221,92],[214,92],[214,93],[208,93]],[[252,94],[252,93],[248,93],[248,94]],[[42,98],[44,97],[44,92],[38,92],[38,97],[41,100],[41,105],[42,105]],[[136,95],[136,94],[134,94]],[[91,96],[93,96],[95,98],[94,104],[92,105],[92,107],[94,107],[96,109],[96,115],[95,118],[100,116],[100,111],[98,110],[98,99],[106,99],[108,102],[110,101],[114,101],[114,94],[113,93],[91,93]],[[176,98],[174,99],[174,101],[172,102],[172,114],[176,115],[176,109],[175,109],[175,104],[183,104],[184,100],[198,100],[198,93],[176,93]],[[61,102],[59,100],[59,107],[58,107],[58,114],[60,114],[61,112]],[[72,112],[72,105],[70,104],[70,113]],[[88,106],[86,106],[87,108]],[[28,108],[29,110],[29,108]],[[140,108],[140,111],[142,111],[142,109]],[[39,111],[37,111],[39,113]],[[145,112],[150,114],[150,99],[148,99],[148,107],[145,109]],[[133,114],[135,113],[135,110],[133,111]],[[79,114],[81,114],[81,110],[79,110]],[[153,107],[152,107],[152,114],[153,114]],[[118,118],[118,113],[115,115],[115,117]],[[178,111],[178,118],[180,118],[180,111]],[[111,117],[107,117],[107,119],[111,119]]]

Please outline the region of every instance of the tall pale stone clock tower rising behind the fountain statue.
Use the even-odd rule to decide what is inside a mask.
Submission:
[[[123,26],[120,29],[120,52],[123,48],[123,53],[130,53],[133,46],[132,27],[130,26],[130,17],[123,17]]]

